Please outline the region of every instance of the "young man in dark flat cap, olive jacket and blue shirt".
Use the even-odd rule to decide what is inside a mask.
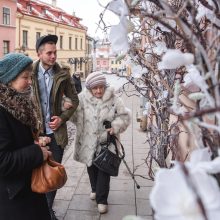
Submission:
[[[76,110],[79,100],[68,68],[57,62],[56,35],[40,37],[36,42],[39,60],[34,63],[33,95],[42,122],[41,133],[51,138],[49,144],[53,158],[61,163],[64,147],[68,143],[66,121]],[[63,97],[72,101],[72,107],[62,110]],[[56,216],[52,209],[56,191],[46,194],[52,220]]]

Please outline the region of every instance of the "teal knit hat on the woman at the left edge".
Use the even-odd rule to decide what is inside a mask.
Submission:
[[[0,83],[15,79],[33,60],[21,53],[9,53],[0,59]]]

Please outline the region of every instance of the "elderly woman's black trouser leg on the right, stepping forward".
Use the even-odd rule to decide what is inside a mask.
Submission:
[[[97,204],[108,204],[108,194],[110,189],[110,176],[109,174],[98,170],[97,183],[96,183],[96,202]]]

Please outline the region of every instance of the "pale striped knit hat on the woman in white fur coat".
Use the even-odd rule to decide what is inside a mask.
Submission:
[[[86,78],[85,86],[87,89],[92,89],[95,86],[107,86],[106,77],[101,72],[90,73]]]

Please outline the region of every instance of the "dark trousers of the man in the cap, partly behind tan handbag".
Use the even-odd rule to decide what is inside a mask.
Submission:
[[[64,150],[59,145],[57,145],[57,142],[55,140],[54,134],[49,134],[47,136],[51,138],[51,142],[48,145],[50,147],[50,151],[52,152],[53,159],[56,162],[61,163],[62,162],[62,158],[63,158],[63,151]],[[47,203],[48,203],[48,206],[49,206],[50,210],[52,210],[53,201],[55,199],[56,192],[57,191],[55,190],[55,191],[46,193]]]

